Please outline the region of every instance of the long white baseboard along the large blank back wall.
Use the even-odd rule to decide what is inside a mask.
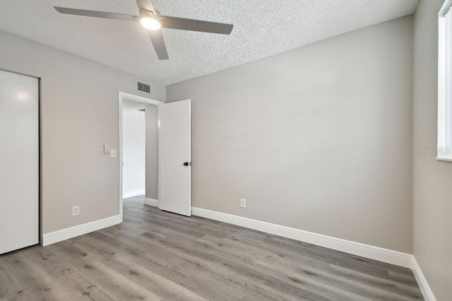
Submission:
[[[211,220],[218,220],[232,225],[239,225],[244,228],[258,230],[273,235],[291,238],[292,240],[307,242],[308,244],[315,244],[320,247],[326,247],[328,249],[362,256],[367,259],[382,261],[396,266],[403,266],[404,268],[411,268],[412,264],[411,254],[393,251],[391,249],[383,249],[369,244],[342,240],[340,238],[321,235],[314,232],[261,222],[260,220],[252,220],[251,218],[242,218],[241,216],[232,216],[230,214],[201,208],[192,207],[191,213],[194,216],[201,216],[203,218],[210,218]]]

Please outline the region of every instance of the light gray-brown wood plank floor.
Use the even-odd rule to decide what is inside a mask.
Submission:
[[[407,268],[124,201],[124,223],[0,256],[0,300],[422,300]]]

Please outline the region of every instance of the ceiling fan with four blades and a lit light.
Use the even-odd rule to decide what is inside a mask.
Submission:
[[[66,13],[69,15],[140,22],[144,28],[148,29],[150,41],[153,43],[155,53],[160,60],[168,59],[167,47],[163,41],[163,35],[160,28],[229,35],[234,26],[232,24],[161,16],[160,13],[154,8],[151,0],[136,0],[136,4],[138,4],[138,8],[140,8],[140,16],[124,15],[122,13],[107,13],[104,11],[85,11],[83,9],[56,6],[54,8],[59,13]]]

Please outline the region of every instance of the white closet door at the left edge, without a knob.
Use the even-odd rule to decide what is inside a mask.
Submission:
[[[39,242],[39,81],[0,70],[0,254]]]

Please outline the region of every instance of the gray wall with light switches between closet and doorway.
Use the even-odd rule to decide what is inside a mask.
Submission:
[[[117,216],[119,156],[102,145],[119,150],[118,91],[136,93],[139,78],[4,31],[0,45],[0,69],[42,78],[42,232]]]

